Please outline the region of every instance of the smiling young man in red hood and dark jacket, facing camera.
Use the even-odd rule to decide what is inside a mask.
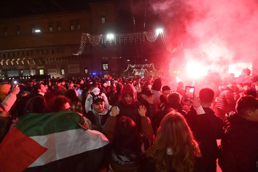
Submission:
[[[117,101],[113,106],[117,106],[117,110],[119,111],[119,115],[117,116],[118,118],[121,116],[127,116],[131,118],[137,128],[140,131],[141,128],[141,116],[138,112],[139,106],[142,105],[142,103],[136,101],[137,94],[136,94],[136,89],[132,84],[126,84],[122,91],[122,100]],[[142,105],[143,106],[143,105]],[[109,114],[112,114],[112,111],[110,109]],[[148,114],[146,112],[146,116],[148,117]]]

